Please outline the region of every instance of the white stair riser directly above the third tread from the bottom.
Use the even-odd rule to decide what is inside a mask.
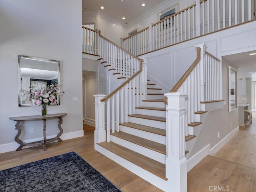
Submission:
[[[151,127],[155,127],[155,128],[164,129],[164,130],[166,129],[166,122],[161,122],[161,121],[155,121],[155,120],[142,119],[142,118],[128,116],[128,122],[151,126]]]

